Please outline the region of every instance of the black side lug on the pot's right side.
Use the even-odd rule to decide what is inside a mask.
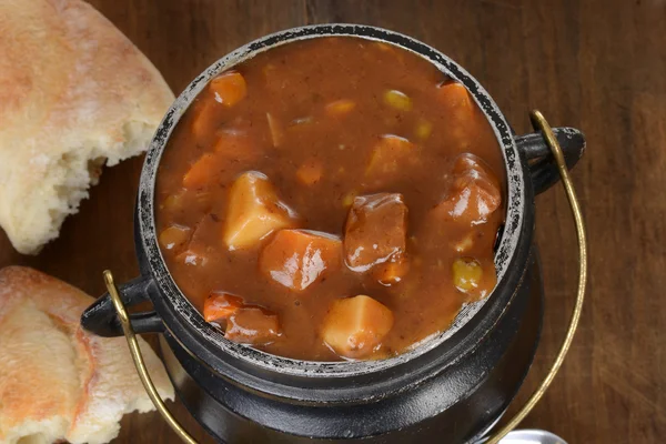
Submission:
[[[553,133],[562,147],[568,170],[585,152],[585,135],[575,128],[554,128]],[[541,132],[515,138],[518,150],[523,152],[529,168],[529,175],[536,194],[543,193],[559,180],[557,163]]]

